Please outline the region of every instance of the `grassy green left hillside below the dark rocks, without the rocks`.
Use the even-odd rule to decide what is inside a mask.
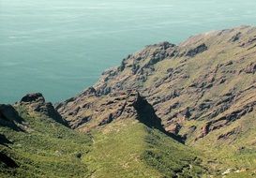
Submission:
[[[10,149],[1,146],[20,165],[18,169],[1,169],[0,177],[89,177],[90,172],[79,155],[86,154],[91,141],[49,118],[20,109],[26,132],[0,127],[9,141]]]

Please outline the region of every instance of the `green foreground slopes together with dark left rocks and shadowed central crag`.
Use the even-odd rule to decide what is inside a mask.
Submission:
[[[24,96],[14,107],[1,105],[0,121],[12,124],[0,126],[0,177],[201,177],[208,172],[203,156],[163,133],[142,96],[129,95],[125,111],[134,115],[113,123],[109,117],[88,134],[68,128],[41,94]]]

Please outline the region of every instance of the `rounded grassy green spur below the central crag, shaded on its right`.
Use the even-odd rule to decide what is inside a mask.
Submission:
[[[83,159],[93,177],[199,177],[204,171],[191,148],[130,119],[93,135],[92,152]]]

